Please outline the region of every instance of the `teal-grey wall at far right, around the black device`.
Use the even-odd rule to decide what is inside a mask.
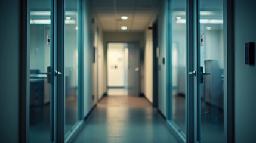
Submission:
[[[245,65],[245,43],[256,42],[256,1],[235,0],[235,142],[256,142],[256,67]]]

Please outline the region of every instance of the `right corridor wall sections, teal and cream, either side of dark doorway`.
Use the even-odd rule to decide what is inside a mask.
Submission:
[[[166,49],[167,49],[167,14],[168,14],[167,1],[162,1],[158,11],[158,47],[159,58],[158,65],[158,108],[166,116]],[[155,18],[152,19],[149,26],[152,26]],[[153,33],[152,30],[145,31],[145,78],[144,78],[144,91],[145,96],[150,102],[153,102]],[[165,64],[162,63],[165,58]]]

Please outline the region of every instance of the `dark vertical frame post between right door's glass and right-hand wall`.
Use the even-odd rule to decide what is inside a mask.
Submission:
[[[224,137],[225,142],[235,142],[235,46],[234,0],[224,0]],[[225,22],[226,21],[226,22]],[[226,90],[225,90],[226,89]]]

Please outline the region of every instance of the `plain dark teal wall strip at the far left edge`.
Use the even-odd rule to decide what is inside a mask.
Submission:
[[[19,141],[20,1],[1,2],[0,142]]]

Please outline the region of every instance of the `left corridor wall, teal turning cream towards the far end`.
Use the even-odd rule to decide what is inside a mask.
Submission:
[[[103,30],[93,13],[91,1],[85,1],[84,14],[84,116],[90,112],[97,101],[107,92],[104,74]],[[97,32],[98,29],[98,32]],[[96,48],[93,63],[93,48]],[[92,98],[94,95],[94,98]]]

